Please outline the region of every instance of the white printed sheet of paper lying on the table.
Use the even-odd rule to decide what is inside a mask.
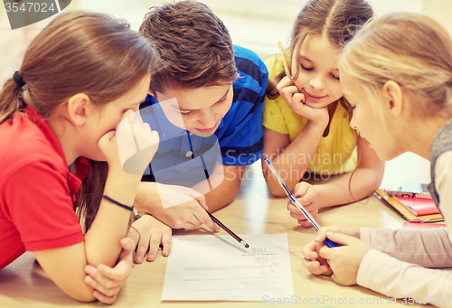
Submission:
[[[262,301],[294,294],[287,234],[174,236],[162,301]],[[301,261],[300,261],[301,262]]]

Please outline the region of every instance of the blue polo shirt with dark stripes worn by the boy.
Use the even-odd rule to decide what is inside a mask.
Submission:
[[[268,70],[259,56],[234,46],[240,77],[234,82],[231,109],[209,137],[172,125],[155,97],[140,106],[143,120],[160,135],[160,145],[143,181],[193,187],[212,173],[215,163],[248,165],[262,155],[262,107]]]

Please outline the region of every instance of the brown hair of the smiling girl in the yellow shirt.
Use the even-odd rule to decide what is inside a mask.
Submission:
[[[373,16],[371,5],[364,0],[310,0],[300,11],[292,30],[289,59],[297,59],[297,54],[308,34],[325,35],[334,47],[343,49],[354,33]],[[299,69],[292,71],[297,79]],[[266,95],[278,98],[278,82],[286,76],[282,71],[275,79],[268,80]],[[344,99],[341,99],[344,101]],[[346,103],[345,103],[346,106]]]

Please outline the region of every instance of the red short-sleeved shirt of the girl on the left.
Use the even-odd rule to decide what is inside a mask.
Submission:
[[[79,159],[73,175],[52,127],[31,107],[25,114],[0,125],[0,269],[26,250],[84,240],[72,202],[89,163]]]

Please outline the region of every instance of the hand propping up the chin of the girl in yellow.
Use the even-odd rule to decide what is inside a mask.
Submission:
[[[327,126],[329,115],[328,108],[315,108],[306,105],[306,98],[287,76],[281,79],[277,85],[279,94],[286,99],[287,105],[300,116],[307,117],[310,121]]]

